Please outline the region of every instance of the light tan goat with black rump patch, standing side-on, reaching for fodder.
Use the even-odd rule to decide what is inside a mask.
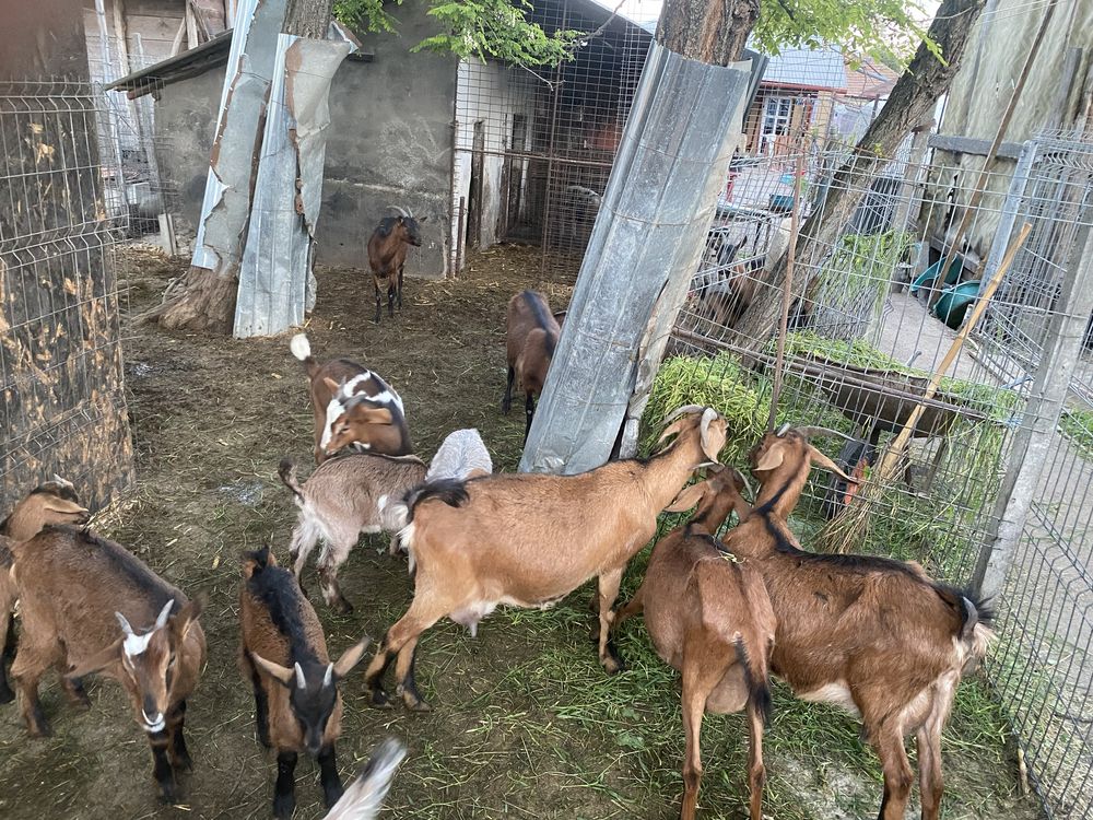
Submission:
[[[599,656],[608,646],[611,606],[627,561],[653,537],[657,515],[700,465],[716,461],[725,419],[712,408],[673,413],[648,460],[613,461],[578,476],[495,475],[425,484],[407,499],[401,532],[416,566],[409,611],[388,630],[365,675],[375,705],[387,703],[380,679],[398,656],[396,679],[408,707],[426,708],[414,684],[422,632],[447,616],[471,630],[497,605],[548,607],[599,579]]]

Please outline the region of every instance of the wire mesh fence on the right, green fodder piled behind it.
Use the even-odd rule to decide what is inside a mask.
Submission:
[[[989,673],[1053,816],[1089,818],[1093,362],[1085,352],[1067,365],[1056,353],[1070,311],[1060,294],[1066,278],[1080,272],[1077,251],[1093,218],[1093,142],[1043,134],[1030,143],[1018,173],[1008,168],[988,180],[996,194],[969,214],[969,238],[943,272],[975,175],[951,154],[927,157],[925,144],[922,136],[873,173],[850,177],[860,203],[842,233],[798,255],[796,277],[807,284],[790,311],[779,422],[842,431],[848,441],[819,446],[847,472],[870,477],[922,400],[1015,229],[1029,223],[1032,232],[985,319],[925,402],[897,478],[875,492],[856,492],[818,472],[792,526],[806,547],[916,560],[938,577],[966,584],[1014,502],[1006,493],[1008,478],[1022,469],[1020,458],[1011,458],[1015,438],[1046,431],[1037,433],[1047,437],[1042,477],[1013,490],[1031,494],[1031,512],[998,601],[1002,640]],[[774,364],[774,341],[745,330],[748,309],[767,292],[780,292],[771,271],[789,234],[785,209],[772,208],[778,204],[773,197],[803,172],[803,215],[824,208],[835,192],[832,171],[847,156],[836,144],[803,139],[794,152],[740,168],[693,276],[646,418],[662,418],[681,403],[713,405],[729,418],[730,444],[744,465],[747,448],[767,424]],[[1089,344],[1089,316],[1077,321]],[[1051,379],[1069,385],[1066,405],[1033,401]]]

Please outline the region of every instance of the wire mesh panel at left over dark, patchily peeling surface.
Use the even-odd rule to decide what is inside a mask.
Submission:
[[[55,471],[93,505],[130,480],[105,115],[92,85],[0,85],[4,507]]]

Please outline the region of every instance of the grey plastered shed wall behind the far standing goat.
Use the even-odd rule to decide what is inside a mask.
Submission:
[[[371,63],[346,60],[330,90],[317,261],[366,268],[367,243],[388,206],[425,221],[422,247],[411,250],[412,276],[447,273],[451,202],[451,117],[456,59],[410,54],[433,33],[424,4],[393,12],[399,35],[362,38]],[[166,85],[156,104],[157,133],[166,139],[161,167],[177,190],[175,208],[192,233],[201,211],[223,67]]]

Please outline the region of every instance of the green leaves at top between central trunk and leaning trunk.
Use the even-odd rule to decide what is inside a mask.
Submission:
[[[914,0],[764,0],[753,35],[766,54],[837,45],[846,55],[868,55],[886,66],[903,67],[919,43],[942,57],[926,36],[920,21],[927,19]]]

